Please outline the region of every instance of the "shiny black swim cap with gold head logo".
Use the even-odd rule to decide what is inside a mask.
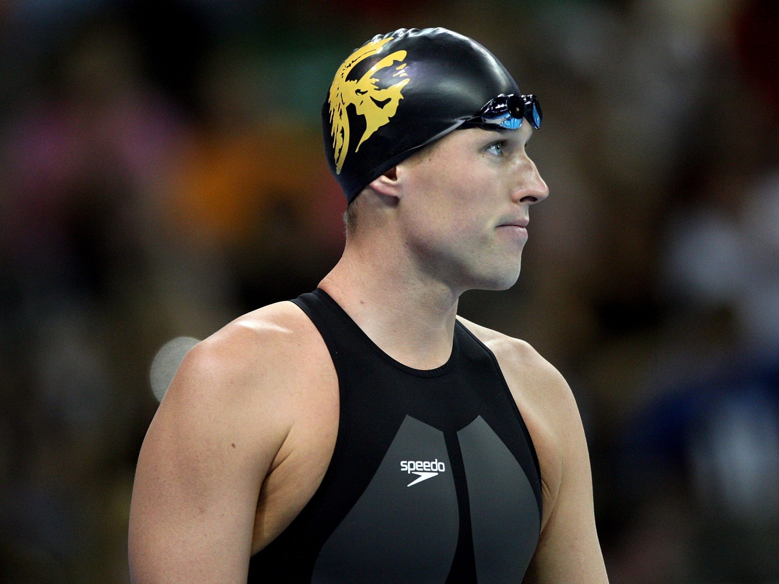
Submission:
[[[519,93],[495,55],[445,28],[377,35],[340,65],[322,106],[330,171],[347,201],[415,150]]]

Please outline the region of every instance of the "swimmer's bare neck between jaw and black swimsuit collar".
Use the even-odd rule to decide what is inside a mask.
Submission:
[[[456,292],[421,273],[403,245],[347,241],[319,283],[386,354],[409,367],[440,367],[452,352]],[[386,244],[386,242],[383,242]]]

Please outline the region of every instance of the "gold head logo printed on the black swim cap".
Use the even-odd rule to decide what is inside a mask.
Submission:
[[[395,68],[397,72],[393,74],[393,77],[406,77],[406,79],[384,90],[380,90],[376,86],[379,79],[372,78],[372,75],[381,69],[386,69],[395,62],[402,62],[406,58],[406,51],[395,51],[382,58],[371,69],[368,69],[368,72],[359,81],[347,79],[354,65],[372,55],[378,55],[382,51],[382,47],[390,40],[393,40],[393,37],[372,40],[370,43],[358,48],[357,51],[354,51],[341,64],[333,79],[333,84],[330,86],[330,95],[328,97],[330,102],[330,123],[332,124],[330,135],[333,136],[333,157],[336,160],[336,174],[340,174],[341,168],[344,167],[344,159],[349,150],[347,105],[354,105],[357,113],[365,118],[365,132],[363,132],[357,148],[354,149],[354,152],[357,152],[360,150],[362,142],[365,142],[365,140],[371,137],[373,132],[390,121],[390,118],[397,111],[398,103],[403,99],[400,90],[410,80],[403,70],[406,66],[405,63]]]

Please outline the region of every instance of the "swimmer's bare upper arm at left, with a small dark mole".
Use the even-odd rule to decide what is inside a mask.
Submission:
[[[130,512],[136,584],[245,582],[259,489],[289,428],[249,334],[194,347],[149,427]]]

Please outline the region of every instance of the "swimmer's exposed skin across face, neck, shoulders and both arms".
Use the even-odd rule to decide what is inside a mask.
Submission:
[[[320,283],[368,336],[413,368],[452,350],[457,299],[520,274],[528,209],[548,189],[531,128],[458,130],[375,179]],[[565,380],[527,343],[464,323],[497,357],[541,466],[541,538],[524,582],[608,582],[587,442]],[[129,554],[136,584],[245,582],[252,554],[312,497],[338,430],[338,380],[294,304],[238,318],[194,347],[141,449]]]

